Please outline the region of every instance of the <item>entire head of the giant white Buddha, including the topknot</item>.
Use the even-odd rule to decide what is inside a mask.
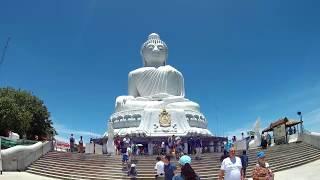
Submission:
[[[152,33],[141,47],[141,56],[144,66],[164,66],[168,58],[168,47],[165,42],[161,41],[158,34]]]

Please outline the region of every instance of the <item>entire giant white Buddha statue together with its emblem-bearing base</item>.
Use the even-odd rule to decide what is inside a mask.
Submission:
[[[167,65],[168,47],[152,33],[141,47],[144,67],[128,78],[128,96],[116,99],[110,116],[115,134],[212,135],[197,103],[186,99],[182,74]]]

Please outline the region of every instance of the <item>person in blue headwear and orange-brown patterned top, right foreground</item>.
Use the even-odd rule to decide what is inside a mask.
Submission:
[[[260,180],[260,179],[273,180],[274,179],[274,174],[269,168],[269,164],[266,162],[265,157],[266,155],[263,151],[259,151],[257,153],[258,163],[252,171],[253,180]]]

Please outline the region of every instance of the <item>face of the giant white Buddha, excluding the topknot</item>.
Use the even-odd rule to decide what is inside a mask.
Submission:
[[[142,55],[148,66],[164,65],[167,58],[167,49],[162,43],[150,42],[142,50]]]

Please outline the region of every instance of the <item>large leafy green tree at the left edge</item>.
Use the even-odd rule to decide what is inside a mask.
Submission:
[[[0,135],[8,130],[29,139],[57,134],[42,100],[28,91],[9,87],[0,88]]]

